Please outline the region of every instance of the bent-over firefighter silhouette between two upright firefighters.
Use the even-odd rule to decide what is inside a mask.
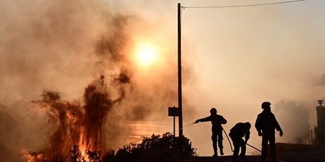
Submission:
[[[231,130],[230,130],[230,138],[233,141],[234,144],[234,154],[233,154],[233,162],[238,161],[238,153],[239,153],[239,147],[241,148],[240,156],[247,161],[247,157],[245,155],[246,153],[246,143],[249,139],[249,129],[250,129],[250,123],[237,123]],[[243,140],[243,137],[245,137],[245,141]]]

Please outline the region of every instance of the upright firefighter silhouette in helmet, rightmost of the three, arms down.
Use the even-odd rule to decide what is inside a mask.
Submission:
[[[258,136],[262,136],[262,162],[266,160],[266,155],[268,151],[268,142],[270,142],[271,156],[272,161],[276,161],[276,152],[275,152],[275,129],[280,132],[282,137],[283,132],[281,127],[276,120],[274,114],[271,112],[271,103],[263,102],[262,103],[262,113],[257,115],[255,128],[258,132]]]

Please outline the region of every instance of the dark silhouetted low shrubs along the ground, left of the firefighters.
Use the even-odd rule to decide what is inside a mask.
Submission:
[[[170,133],[162,136],[152,135],[145,137],[139,144],[131,143],[120,148],[116,154],[114,150],[108,150],[105,154],[101,151],[87,151],[88,161],[90,162],[132,162],[132,161],[177,161],[180,158],[187,158],[195,154],[195,149],[186,137],[175,137]],[[40,162],[50,161],[69,161],[85,162],[79,146],[74,145],[70,150],[69,157],[44,158]],[[102,156],[102,157],[101,157]]]

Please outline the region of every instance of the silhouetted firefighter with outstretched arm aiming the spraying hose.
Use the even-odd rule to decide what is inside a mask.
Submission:
[[[206,118],[201,118],[198,119],[197,121],[195,121],[195,123],[199,123],[204,122],[204,121],[211,121],[212,123],[212,145],[213,145],[213,157],[217,157],[218,156],[218,152],[217,152],[217,142],[219,145],[219,149],[220,149],[220,154],[223,155],[223,146],[222,146],[222,127],[221,124],[226,124],[227,120],[225,120],[221,115],[217,114],[217,109],[215,108],[211,108],[210,110],[211,115],[206,117]]]

